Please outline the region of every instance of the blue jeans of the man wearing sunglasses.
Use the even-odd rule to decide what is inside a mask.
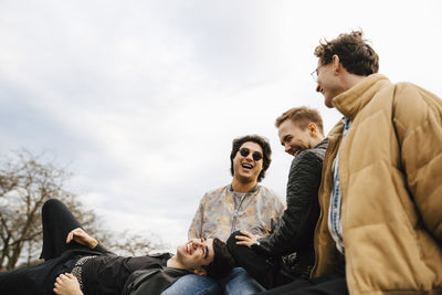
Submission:
[[[208,276],[189,274],[180,277],[161,295],[248,295],[265,291],[242,267],[233,268],[225,277],[213,280]]]

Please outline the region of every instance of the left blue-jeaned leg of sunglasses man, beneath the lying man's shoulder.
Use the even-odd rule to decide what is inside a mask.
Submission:
[[[207,276],[188,274],[165,289],[161,295],[220,295],[221,287],[218,283]]]

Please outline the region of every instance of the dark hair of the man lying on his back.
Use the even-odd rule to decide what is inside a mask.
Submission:
[[[225,276],[235,265],[228,245],[220,239],[213,239],[213,261],[209,265],[202,265],[209,276],[220,278]]]

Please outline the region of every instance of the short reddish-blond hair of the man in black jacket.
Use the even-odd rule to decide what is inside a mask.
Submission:
[[[320,117],[319,112],[315,108],[299,106],[284,112],[275,120],[276,128],[280,128],[281,124],[283,124],[283,122],[286,119],[292,119],[302,129],[307,128],[309,123],[314,123],[318,127],[319,133],[324,135],[323,118]]]

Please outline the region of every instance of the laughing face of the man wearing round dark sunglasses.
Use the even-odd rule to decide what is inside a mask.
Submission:
[[[242,149],[248,149],[249,154],[243,156],[245,152],[242,155]],[[257,155],[261,156],[260,160],[254,159]],[[233,178],[238,179],[242,183],[256,182],[257,177],[263,169],[264,160],[262,156],[263,150],[259,144],[252,141],[242,144],[236,156],[233,158]]]

